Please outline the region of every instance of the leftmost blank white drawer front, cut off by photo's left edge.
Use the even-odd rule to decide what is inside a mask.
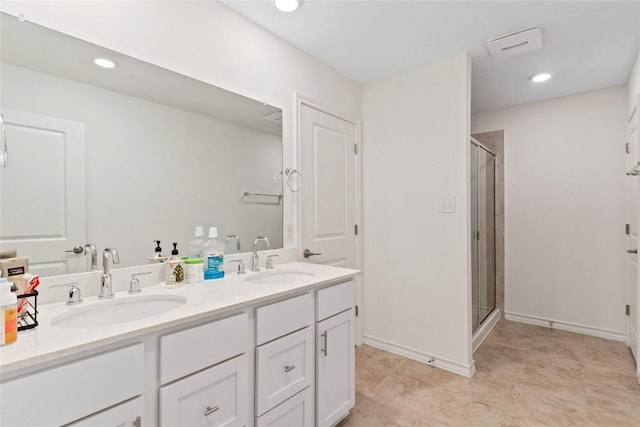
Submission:
[[[62,425],[142,394],[144,347],[135,344],[0,385],[0,425]]]

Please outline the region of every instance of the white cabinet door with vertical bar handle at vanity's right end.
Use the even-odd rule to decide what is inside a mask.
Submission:
[[[316,425],[331,426],[355,404],[353,308],[317,324]]]

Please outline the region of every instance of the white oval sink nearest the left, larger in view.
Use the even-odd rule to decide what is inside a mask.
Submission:
[[[77,308],[51,320],[59,328],[95,328],[133,322],[176,309],[187,302],[179,295],[144,295]]]

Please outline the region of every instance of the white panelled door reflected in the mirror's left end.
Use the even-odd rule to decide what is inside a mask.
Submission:
[[[84,124],[3,109],[9,159],[0,168],[0,247],[29,257],[29,271],[85,271]]]

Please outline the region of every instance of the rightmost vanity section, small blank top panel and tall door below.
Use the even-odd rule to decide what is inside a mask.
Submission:
[[[332,426],[355,404],[355,284],[317,291],[316,426]]]

